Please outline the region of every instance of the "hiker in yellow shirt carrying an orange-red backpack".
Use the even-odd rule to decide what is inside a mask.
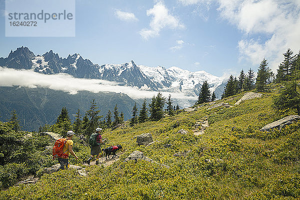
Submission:
[[[76,159],[78,159],[78,156],[73,151],[73,135],[74,132],[69,130],[66,133],[66,138],[60,138],[55,141],[52,151],[52,159],[57,157],[58,162],[60,164],[60,169],[67,169],[69,167],[69,153],[73,155]]]

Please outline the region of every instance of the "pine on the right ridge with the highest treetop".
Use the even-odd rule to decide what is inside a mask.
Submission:
[[[294,55],[292,54],[293,52],[290,50],[290,48],[283,53],[284,60],[279,64],[277,69],[276,81],[284,81],[292,78],[291,70],[294,59]]]

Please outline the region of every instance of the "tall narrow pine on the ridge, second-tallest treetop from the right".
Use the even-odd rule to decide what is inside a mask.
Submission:
[[[270,72],[266,61],[267,60],[263,58],[257,71],[256,89],[260,92],[264,92],[266,90],[267,77],[269,76]]]

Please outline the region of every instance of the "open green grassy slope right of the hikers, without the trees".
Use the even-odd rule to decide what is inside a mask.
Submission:
[[[233,105],[242,95],[217,103]],[[107,130],[109,143],[121,144],[126,150],[119,161],[108,167],[87,167],[87,177],[72,170],[43,175],[36,184],[1,191],[0,198],[299,199],[300,122],[280,131],[258,131],[287,114],[280,115],[273,109],[273,95],[264,93],[261,98],[232,107],[207,109],[209,105],[203,104],[195,111],[157,122]],[[209,127],[204,134],[193,135],[194,124],[205,115]],[[187,133],[178,134],[180,129]],[[136,145],[134,135],[147,132],[158,141],[149,146]],[[170,168],[141,160],[123,162],[133,150]],[[186,155],[174,156],[177,152]],[[70,162],[79,161],[71,158]]]

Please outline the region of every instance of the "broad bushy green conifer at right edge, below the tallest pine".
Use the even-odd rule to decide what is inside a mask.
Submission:
[[[300,115],[300,93],[297,90],[299,85],[296,81],[284,83],[283,89],[279,92],[279,96],[275,97],[274,106],[280,110],[296,109]]]

